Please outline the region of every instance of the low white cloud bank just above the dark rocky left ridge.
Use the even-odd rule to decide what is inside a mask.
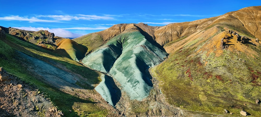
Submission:
[[[12,28],[17,28],[17,29],[21,29],[21,30],[30,30],[30,31],[39,31],[39,30],[48,30],[51,33],[54,33],[55,36],[59,36],[59,37],[63,37],[63,38],[76,38],[76,37],[80,37],[83,34],[76,34],[76,33],[72,33],[68,30],[64,30],[61,28],[43,28],[43,27],[12,27]]]

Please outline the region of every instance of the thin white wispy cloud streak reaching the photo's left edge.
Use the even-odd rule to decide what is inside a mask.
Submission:
[[[0,17],[0,20],[7,20],[7,21],[11,21],[11,20],[15,20],[15,21],[29,21],[30,23],[33,22],[59,22],[59,21],[53,21],[53,20],[41,20],[38,19],[36,17],[20,17],[20,16],[6,16],[6,17]]]

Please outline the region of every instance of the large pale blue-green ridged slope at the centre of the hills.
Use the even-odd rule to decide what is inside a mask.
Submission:
[[[121,33],[93,53],[82,63],[91,69],[108,73],[116,79],[131,99],[142,100],[152,88],[145,71],[162,62],[167,53],[146,40],[140,31]]]

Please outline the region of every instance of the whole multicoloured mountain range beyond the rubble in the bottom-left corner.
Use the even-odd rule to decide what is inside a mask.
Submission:
[[[161,27],[116,24],[73,40],[1,27],[0,67],[66,116],[259,116],[260,14],[252,6]],[[56,48],[27,43],[33,35]]]

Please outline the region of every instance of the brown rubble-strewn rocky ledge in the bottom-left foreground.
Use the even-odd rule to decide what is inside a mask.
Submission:
[[[0,68],[0,116],[61,117],[61,110],[38,89]]]

